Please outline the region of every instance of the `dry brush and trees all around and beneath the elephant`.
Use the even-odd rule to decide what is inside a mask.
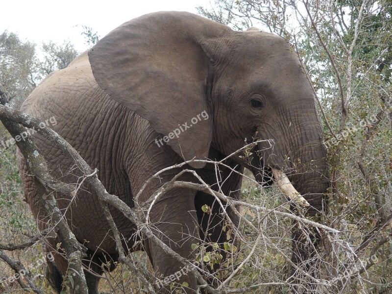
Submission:
[[[198,11],[233,29],[260,26],[284,37],[314,85],[331,169],[323,224],[340,232],[322,233],[314,260],[318,272],[311,279],[318,292],[392,293],[392,3],[216,0]],[[98,36],[89,29],[85,35],[94,44]],[[34,44],[13,33],[0,35],[0,86],[16,107],[44,75],[67,66],[76,56],[69,43],[49,43],[43,51],[44,59],[38,60]],[[0,139],[9,138],[1,126]],[[37,289],[49,293],[43,279],[42,237],[23,201],[14,145],[0,145],[0,184],[0,253],[21,262],[31,271]],[[232,261],[241,266],[230,276],[231,271],[221,265],[221,278],[228,278],[222,289],[288,293],[292,219],[284,214],[290,214],[287,201],[277,197],[280,192],[275,188],[262,189],[251,179],[244,182],[242,195],[251,204],[243,203],[241,209],[245,242],[241,248],[227,248]],[[32,244],[8,250],[27,240]],[[219,263],[220,253],[207,254],[203,246],[195,245],[201,252],[198,261]],[[0,279],[13,276],[8,265],[0,261]],[[131,254],[115,272],[104,274],[102,291],[149,292],[148,283],[155,284],[152,275],[146,257]],[[72,275],[67,278],[73,283]],[[1,287],[0,293],[21,288],[17,281]]]

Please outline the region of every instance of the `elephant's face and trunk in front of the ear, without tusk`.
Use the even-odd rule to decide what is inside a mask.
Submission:
[[[231,154],[245,138],[264,140],[255,148],[261,160],[253,158],[248,166],[256,179],[263,179],[258,172],[263,166],[276,179],[284,171],[307,194],[312,213],[321,210],[326,154],[313,89],[294,50],[283,38],[257,29],[221,36],[204,50],[213,61],[208,93],[214,147]]]

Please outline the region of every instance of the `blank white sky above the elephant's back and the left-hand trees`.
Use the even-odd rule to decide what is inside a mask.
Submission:
[[[130,19],[161,10],[188,11],[207,6],[209,0],[3,0],[0,33],[16,32],[23,41],[37,44],[50,40],[62,44],[71,41],[78,51],[87,49],[82,25],[98,31],[102,38]],[[78,26],[76,26],[78,25]]]

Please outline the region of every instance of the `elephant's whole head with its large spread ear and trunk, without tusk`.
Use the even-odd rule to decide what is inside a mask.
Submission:
[[[311,85],[283,38],[160,12],[113,30],[89,60],[98,85],[158,133],[172,133],[165,142],[183,159],[205,159],[211,146],[229,155],[266,140],[256,147],[261,158],[236,160],[260,182],[271,169],[276,177],[284,171],[309,212],[321,210],[328,185],[321,126]],[[192,124],[201,113],[208,115]]]

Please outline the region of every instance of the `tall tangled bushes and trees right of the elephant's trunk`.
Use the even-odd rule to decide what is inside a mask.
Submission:
[[[392,213],[391,1],[216,0],[198,11],[236,29],[261,25],[293,44],[313,81],[324,127],[332,181],[325,222],[358,254],[347,257],[324,242],[322,274],[333,279],[344,262],[377,257],[367,275],[344,289],[386,293],[392,287],[391,224],[361,245]]]

